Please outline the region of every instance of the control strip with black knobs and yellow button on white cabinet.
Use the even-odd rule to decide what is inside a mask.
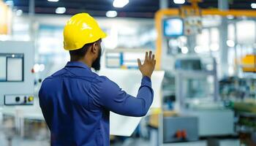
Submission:
[[[31,95],[5,95],[4,105],[33,105],[34,96]]]

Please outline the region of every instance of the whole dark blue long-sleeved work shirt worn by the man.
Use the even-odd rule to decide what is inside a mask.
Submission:
[[[135,98],[86,64],[70,61],[42,82],[39,105],[50,128],[51,145],[108,146],[110,111],[146,115],[153,95],[149,77],[142,78]]]

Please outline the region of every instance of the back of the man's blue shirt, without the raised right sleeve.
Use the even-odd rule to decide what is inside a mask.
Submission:
[[[99,76],[79,65],[83,66],[71,64],[46,78],[39,91],[52,145],[102,145],[100,125],[101,120],[108,122],[102,116],[108,112],[90,105],[89,95],[91,85],[100,82]]]

